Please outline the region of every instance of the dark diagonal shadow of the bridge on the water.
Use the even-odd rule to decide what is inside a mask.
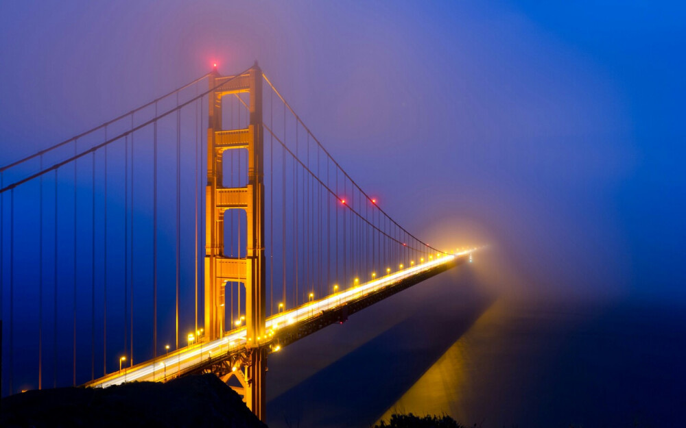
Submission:
[[[351,316],[344,326],[285,348],[283,353],[293,352],[288,357],[272,355],[268,393],[275,388],[277,394],[268,396],[268,425],[375,423],[495,301],[473,285],[468,272],[458,267],[438,275]],[[361,338],[357,343],[355,336]],[[331,347],[339,354],[331,355]],[[292,385],[278,384],[287,379]]]

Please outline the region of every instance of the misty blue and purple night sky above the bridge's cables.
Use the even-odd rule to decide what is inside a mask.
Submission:
[[[216,61],[263,71],[363,188],[503,282],[683,299],[686,8],[652,1],[3,1],[0,163]]]

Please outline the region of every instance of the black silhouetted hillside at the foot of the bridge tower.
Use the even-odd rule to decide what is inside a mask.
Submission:
[[[266,427],[214,375],[110,388],[27,391],[2,400],[0,426]]]

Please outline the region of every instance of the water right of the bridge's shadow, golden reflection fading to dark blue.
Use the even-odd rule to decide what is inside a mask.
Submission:
[[[686,403],[684,320],[678,308],[642,303],[497,301],[381,419],[672,426]]]

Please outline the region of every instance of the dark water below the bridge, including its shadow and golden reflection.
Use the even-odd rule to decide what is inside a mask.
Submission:
[[[679,426],[683,303],[486,292],[477,272],[492,261],[477,255],[272,357],[269,425],[412,412],[484,428]]]

